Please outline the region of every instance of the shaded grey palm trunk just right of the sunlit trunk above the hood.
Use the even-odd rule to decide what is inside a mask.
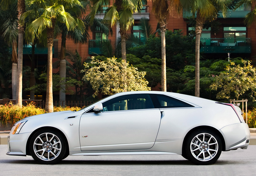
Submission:
[[[66,101],[66,36],[67,34],[65,32],[62,32],[61,36],[61,48],[60,48],[60,78],[63,78],[61,84],[60,84],[60,106],[65,107],[65,101]]]

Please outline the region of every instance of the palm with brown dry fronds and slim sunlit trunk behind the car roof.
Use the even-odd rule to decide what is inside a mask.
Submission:
[[[162,91],[166,92],[166,53],[165,53],[165,31],[169,13],[176,10],[180,12],[180,1],[170,0],[170,6],[168,0],[152,0],[152,12],[155,14],[156,20],[160,25],[161,32],[161,52],[162,52]]]

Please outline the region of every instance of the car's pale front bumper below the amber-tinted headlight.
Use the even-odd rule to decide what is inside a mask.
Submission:
[[[31,133],[9,134],[7,137],[8,152],[6,155],[26,156],[27,141]]]

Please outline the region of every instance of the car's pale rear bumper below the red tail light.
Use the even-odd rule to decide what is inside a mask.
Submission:
[[[246,149],[250,141],[250,130],[247,124],[239,123],[225,126],[220,129],[224,137],[226,151],[237,148]]]

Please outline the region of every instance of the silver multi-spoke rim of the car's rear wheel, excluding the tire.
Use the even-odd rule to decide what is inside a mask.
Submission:
[[[219,149],[216,138],[209,133],[197,134],[190,143],[190,152],[199,161],[212,160]]]

